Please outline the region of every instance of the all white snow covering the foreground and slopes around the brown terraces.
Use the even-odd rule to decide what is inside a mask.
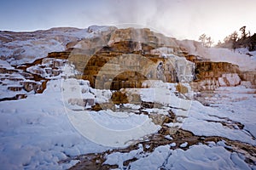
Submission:
[[[15,41],[9,41],[14,38],[11,34],[5,33],[3,37],[0,32],[1,41],[7,41],[0,47],[0,54],[6,59],[1,60],[0,67],[13,70],[15,68],[10,64],[31,63],[48,52],[62,51],[67,42],[95,37],[102,31],[108,31],[108,27],[55,28],[44,33],[38,31],[36,38],[19,37]],[[229,61],[241,69],[255,71],[255,52],[249,52],[252,56],[248,56],[247,50],[242,48],[235,53],[222,48],[203,49],[189,44],[191,42],[187,44],[191,54],[194,51],[214,61]],[[15,58],[18,54],[23,57]],[[32,66],[28,71],[39,67]],[[125,104],[114,105],[116,111],[91,111],[95,103],[108,102],[112,92],[90,88],[89,81],[67,78],[74,73],[70,65],[61,69],[65,72],[55,80],[49,78],[43,94],[32,93],[26,99],[0,102],[0,169],[67,169],[79,162],[75,156],[107,150],[109,153],[103,156],[104,164],[118,165],[119,169],[127,168],[124,162],[131,159],[133,161],[128,165],[131,169],[256,169],[255,162],[248,164],[246,156],[226,145],[224,140],[194,145],[183,141],[177,145],[172,141],[175,132],[165,136],[168,144],[156,146],[151,152],[147,152],[142,144],[138,144],[137,150],[111,152],[116,147],[126,148],[138,141],[148,141],[148,136],[158,133],[161,127],[181,128],[201,138],[215,136],[255,147],[255,89],[242,85],[218,88],[212,96],[205,98],[210,104],[205,106],[193,100],[189,83],[183,83],[188,93],[179,94],[177,83],[156,81],[150,82],[151,87],[148,87],[144,82],[148,88],[123,90],[127,94],[139,94],[143,102],[154,106],[160,104],[160,108]],[[5,77],[1,74],[1,78]],[[20,72],[11,73],[9,77],[24,78]],[[7,81],[4,83],[19,85]],[[17,94],[6,91],[6,88],[6,85],[0,86],[2,98]],[[162,125],[160,120],[154,120],[157,116],[169,116],[170,111],[177,122]],[[68,158],[73,161],[63,161]],[[255,156],[252,160],[256,161]]]

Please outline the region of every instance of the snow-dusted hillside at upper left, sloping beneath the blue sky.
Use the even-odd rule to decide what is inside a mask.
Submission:
[[[90,26],[87,29],[70,27],[51,28],[46,31],[0,31],[0,56],[11,65],[31,63],[46,57],[49,52],[64,51],[68,42],[101,36],[113,26]]]

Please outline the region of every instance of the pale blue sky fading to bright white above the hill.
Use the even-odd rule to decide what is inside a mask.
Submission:
[[[169,37],[223,41],[241,26],[256,32],[256,0],[1,0],[1,31],[91,25],[149,27]]]

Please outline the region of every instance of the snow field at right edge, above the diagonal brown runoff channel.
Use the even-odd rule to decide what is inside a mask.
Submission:
[[[229,90],[230,93],[221,94],[224,89]],[[242,89],[246,91],[236,94]],[[253,92],[255,93],[254,90]],[[207,107],[198,101],[193,101],[189,117],[184,121],[182,128],[196,135],[222,136],[256,145],[255,94],[247,94],[247,89],[240,86],[220,88],[216,95],[218,99],[212,97],[216,99],[215,104],[212,105],[215,107]],[[225,127],[221,122],[230,123],[233,127]],[[245,127],[240,129],[236,122],[240,122]]]

